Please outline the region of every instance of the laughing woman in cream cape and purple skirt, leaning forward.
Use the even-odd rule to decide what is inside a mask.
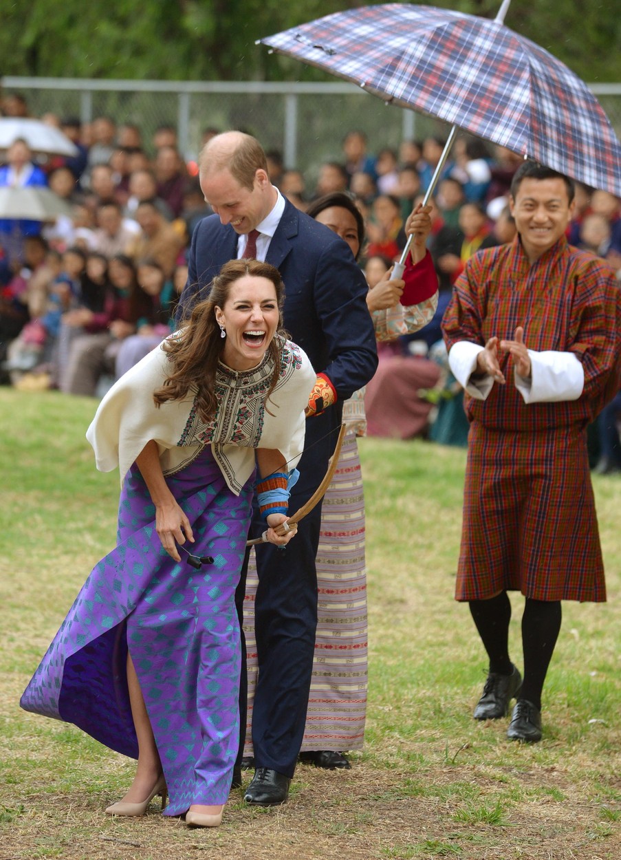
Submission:
[[[227,263],[210,298],[114,385],[89,427],[97,468],[120,468],[118,543],[89,575],[22,707],[138,759],[108,814],[142,815],[168,793],[165,814],[222,820],[239,737],[234,595],[255,464],[267,538],[284,546],[295,532],[278,537],[274,526],[286,520],[286,471],[304,447],[315,382],[279,332],[282,300],[274,267]]]

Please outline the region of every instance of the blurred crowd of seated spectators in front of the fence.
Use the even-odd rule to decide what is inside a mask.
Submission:
[[[0,107],[3,115],[28,116],[27,102],[17,94],[6,95]],[[46,185],[69,204],[71,216],[46,223],[0,218],[0,380],[101,396],[173,328],[187,276],[185,252],[194,226],[210,209],[195,163],[187,164],[179,151],[175,126],[163,124],[144,140],[138,126],[106,116],[88,125],[54,114],[40,119],[65,132],[77,155],[35,158],[16,140],[0,152],[0,186]],[[203,142],[215,133],[206,128]],[[308,175],[283,163],[279,151],[268,151],[267,161],[274,185],[301,210],[323,194],[352,194],[366,224],[361,265],[372,281],[375,269],[390,267],[401,255],[405,219],[422,200],[443,148],[443,140],[428,137],[372,152],[365,134],[354,130],[342,139],[339,157]],[[520,161],[476,138],[464,136],[453,145],[430,200],[428,245],[440,282],[438,310],[425,329],[381,356],[395,363],[384,366],[378,388],[385,399],[390,379],[397,385],[401,375],[402,390],[412,397],[393,399],[411,410],[411,420],[387,423],[384,402],[377,415],[367,404],[370,432],[375,427],[379,435],[422,434],[465,444],[463,392],[448,371],[440,319],[470,255],[513,240],[508,192]],[[568,238],[605,257],[621,276],[621,200],[578,185]],[[619,419],[621,395],[593,429],[599,471],[621,471]]]

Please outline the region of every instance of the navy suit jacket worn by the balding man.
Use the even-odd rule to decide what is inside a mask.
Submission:
[[[206,298],[214,275],[236,257],[237,233],[231,224],[220,224],[218,215],[200,221],[192,237],[178,319],[197,298]],[[286,330],[315,371],[327,374],[342,402],[372,378],[378,364],[366,281],[351,249],[286,200],[266,261],[285,283]]]

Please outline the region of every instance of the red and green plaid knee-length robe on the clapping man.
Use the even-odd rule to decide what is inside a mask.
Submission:
[[[503,589],[537,600],[606,600],[586,428],[618,390],[621,294],[612,270],[563,237],[534,264],[520,238],[468,261],[442,323],[446,347],[513,340],[581,361],[577,400],[526,404],[507,384],[466,395],[470,420],[456,599]]]

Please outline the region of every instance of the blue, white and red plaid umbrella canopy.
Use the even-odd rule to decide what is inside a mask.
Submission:
[[[621,196],[621,144],[603,108],[565,64],[505,27],[500,13],[491,21],[388,3],[260,41]]]

